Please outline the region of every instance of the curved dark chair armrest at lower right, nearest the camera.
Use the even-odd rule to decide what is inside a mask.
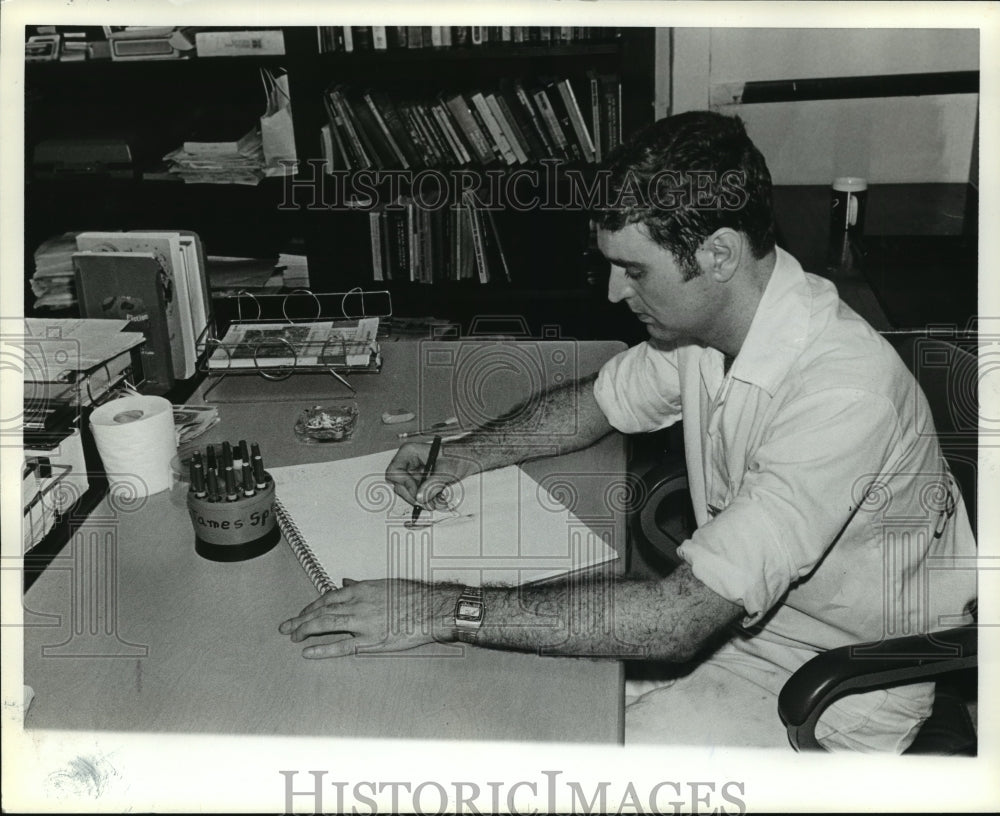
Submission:
[[[822,750],[816,723],[843,695],[905,685],[976,665],[976,627],[853,644],[816,655],[801,666],[778,695],[778,712],[796,750]]]

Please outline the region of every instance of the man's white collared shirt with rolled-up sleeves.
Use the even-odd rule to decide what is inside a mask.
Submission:
[[[730,645],[775,694],[818,651],[964,622],[975,540],[926,399],[785,251],[727,374],[715,349],[642,343],[605,364],[594,394],[625,433],[684,418],[698,529],[678,554],[746,610]],[[932,690],[902,694],[929,712]],[[846,698],[834,721],[877,696]]]

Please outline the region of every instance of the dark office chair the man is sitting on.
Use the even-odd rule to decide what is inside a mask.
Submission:
[[[930,404],[942,452],[962,489],[976,529],[978,445],[978,361],[960,343],[924,336],[887,337],[920,383]],[[971,345],[974,349],[974,344]],[[678,431],[672,444],[637,457],[634,472],[642,498],[629,528],[644,557],[670,569],[680,562],[677,547],[695,529]],[[658,440],[662,442],[662,440]],[[650,458],[654,461],[650,463]],[[973,605],[967,610],[975,620]],[[852,692],[917,681],[935,681],[934,708],[907,749],[908,754],[974,756],[976,727],[966,700],[976,694],[975,624],[929,635],[851,644],[816,655],[785,683],[778,711],[796,750],[818,750],[815,727],[826,708]]]

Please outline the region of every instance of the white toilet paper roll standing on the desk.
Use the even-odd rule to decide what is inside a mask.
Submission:
[[[177,437],[168,400],[148,396],[111,400],[90,415],[90,428],[109,484],[128,485],[135,496],[170,487]]]

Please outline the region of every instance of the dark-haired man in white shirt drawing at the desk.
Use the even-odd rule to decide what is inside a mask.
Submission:
[[[570,581],[485,587],[479,623],[456,619],[460,595],[480,609],[474,590],[349,582],[281,631],[295,641],[342,633],[308,657],[458,637],[698,658],[684,676],[629,684],[626,740],[787,747],[777,695],[809,658],[961,615],[974,574],[948,566],[975,552],[965,505],[902,361],[830,282],[775,246],[770,174],[739,119],[661,120],[605,169],[613,206],[595,219],[612,263],[608,297],[628,304],[649,340],[551,389],[531,431],[516,413],[488,423],[446,444],[426,481],[428,447],[409,443],[386,478],[431,507],[449,481],[537,455],[539,437],[568,452],[683,417],[698,529],[682,563],[664,578],[620,579],[598,603]],[[942,486],[945,500],[929,501]],[[390,594],[409,618],[390,631],[413,634],[387,635]],[[842,698],[817,736],[830,748],[902,751],[932,696],[922,683]]]

